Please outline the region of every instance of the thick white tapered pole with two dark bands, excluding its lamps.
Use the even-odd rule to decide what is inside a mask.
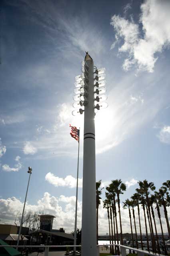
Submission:
[[[84,153],[82,191],[82,256],[96,256],[96,157],[94,126],[94,65],[88,65],[88,105],[84,107]]]

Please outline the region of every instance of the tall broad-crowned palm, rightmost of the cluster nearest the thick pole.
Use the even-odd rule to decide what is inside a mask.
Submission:
[[[121,179],[112,180],[111,185],[114,189],[114,192],[117,195],[118,209],[119,209],[118,212],[119,212],[119,220],[120,220],[120,240],[121,240],[120,244],[123,244],[122,221],[121,221],[121,213],[120,213],[120,194],[123,194],[123,191],[126,191],[126,185],[122,183]]]

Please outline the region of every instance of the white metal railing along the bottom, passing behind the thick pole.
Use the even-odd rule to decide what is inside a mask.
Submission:
[[[117,246],[117,247],[120,247],[120,250],[121,250],[121,255],[122,256],[126,256],[126,250],[134,250],[135,252],[137,252],[138,256],[144,256],[145,254],[147,255],[151,255],[151,256],[163,256],[164,254],[158,254],[158,253],[154,253],[154,252],[148,252],[148,251],[145,251],[145,250],[140,250],[140,249],[137,249],[137,248],[133,248],[133,247],[129,247],[129,246],[125,246],[125,245],[122,245],[122,244],[98,244],[97,245],[97,254],[96,256],[99,256],[100,255],[100,246]],[[48,251],[49,251],[49,248],[66,248],[66,247],[69,247],[69,248],[72,248],[72,247],[75,247],[74,245],[19,245],[19,246],[16,246],[16,245],[0,245],[0,247],[18,247],[18,248],[45,248],[45,252],[44,252],[44,256],[48,256]],[[81,247],[81,245],[76,245],[76,247]],[[115,256],[115,255],[113,255]]]

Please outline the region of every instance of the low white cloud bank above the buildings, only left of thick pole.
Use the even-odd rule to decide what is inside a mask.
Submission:
[[[51,196],[48,192],[38,200],[36,204],[26,202],[25,210],[32,212],[44,212],[44,214],[54,215],[53,228],[63,227],[66,232],[74,230],[75,218],[75,197]],[[6,224],[14,224],[15,216],[22,212],[24,203],[12,197],[8,199],[0,198],[0,219]],[[77,227],[81,228],[82,203],[78,201]]]

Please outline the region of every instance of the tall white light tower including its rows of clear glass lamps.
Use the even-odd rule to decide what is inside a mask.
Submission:
[[[108,107],[105,85],[105,69],[96,69],[93,60],[86,53],[82,62],[82,75],[75,77],[76,94],[72,115],[84,112],[84,152],[83,152],[83,194],[82,194],[82,256],[96,256],[96,155],[95,155],[95,112]],[[95,72],[94,72],[95,71]],[[94,74],[95,77],[94,77]],[[96,81],[96,83],[94,83]],[[102,94],[102,95],[100,95]]]

